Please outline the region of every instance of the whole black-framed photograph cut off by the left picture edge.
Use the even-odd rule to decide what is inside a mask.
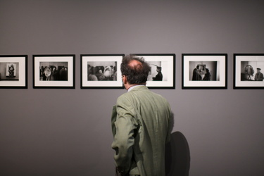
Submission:
[[[27,56],[0,56],[0,88],[27,89]]]

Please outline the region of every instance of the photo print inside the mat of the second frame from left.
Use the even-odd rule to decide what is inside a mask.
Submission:
[[[68,81],[68,62],[39,62],[40,81]]]

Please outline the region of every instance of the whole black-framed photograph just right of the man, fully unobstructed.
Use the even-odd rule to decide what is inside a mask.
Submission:
[[[182,89],[227,89],[227,54],[182,54]]]

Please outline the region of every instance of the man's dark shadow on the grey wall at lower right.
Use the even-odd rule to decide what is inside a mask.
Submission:
[[[165,170],[167,176],[188,176],[190,169],[190,151],[187,139],[181,132],[171,134],[166,146]]]

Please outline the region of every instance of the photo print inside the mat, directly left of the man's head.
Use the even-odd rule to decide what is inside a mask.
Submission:
[[[117,80],[116,61],[88,61],[87,80],[88,81],[116,81]]]

